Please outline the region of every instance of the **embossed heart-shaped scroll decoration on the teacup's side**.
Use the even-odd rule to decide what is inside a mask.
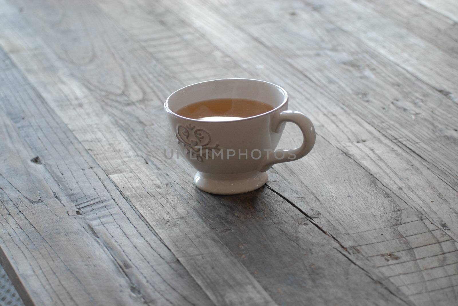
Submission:
[[[191,123],[186,126],[179,125],[175,136],[178,143],[185,148],[186,153],[200,162],[208,159],[209,153],[212,151],[219,152],[221,150],[218,147],[219,144],[210,145],[211,137],[206,130],[196,129]]]

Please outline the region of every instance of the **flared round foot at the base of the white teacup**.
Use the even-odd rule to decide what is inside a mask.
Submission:
[[[253,191],[267,182],[267,173],[250,171],[236,174],[197,172],[194,184],[208,193],[238,194]]]

